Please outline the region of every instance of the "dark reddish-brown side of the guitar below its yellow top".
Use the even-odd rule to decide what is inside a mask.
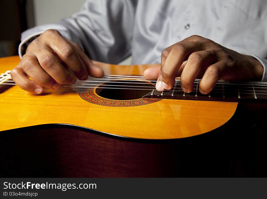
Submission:
[[[214,131],[120,138],[66,125],[0,132],[1,177],[266,177],[266,104],[238,104]]]

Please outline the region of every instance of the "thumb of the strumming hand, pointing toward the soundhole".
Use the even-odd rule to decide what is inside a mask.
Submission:
[[[83,52],[83,50],[77,44],[72,42],[72,45],[74,45],[80,59],[83,61],[83,64],[85,65],[88,74],[95,78],[102,78],[104,76],[104,71],[98,66],[94,65],[91,59]]]

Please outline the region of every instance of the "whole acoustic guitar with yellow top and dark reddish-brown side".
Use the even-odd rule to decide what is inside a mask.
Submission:
[[[95,61],[103,78],[35,95],[10,77],[19,61],[0,59],[1,177],[266,176],[265,82],[158,92],[155,64]]]

